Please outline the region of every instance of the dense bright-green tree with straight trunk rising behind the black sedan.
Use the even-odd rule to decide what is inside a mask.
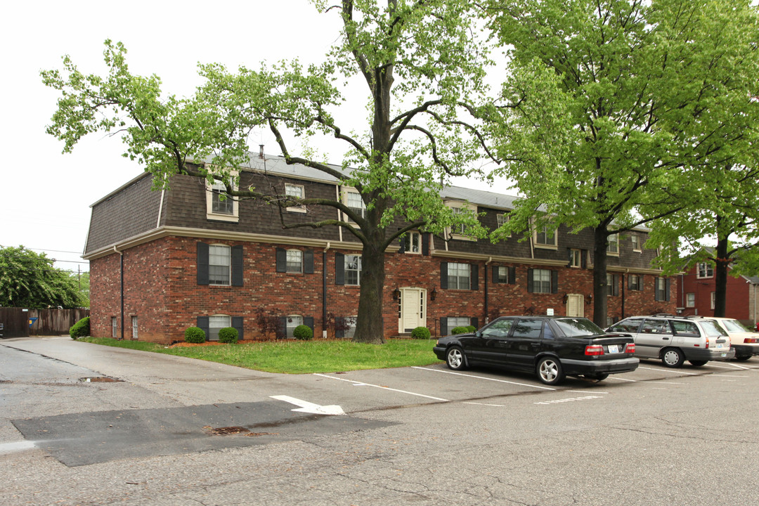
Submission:
[[[756,8],[748,0],[487,6],[490,26],[512,46],[505,96],[524,97],[499,111],[493,130],[500,156],[518,159],[503,174],[524,194],[498,234],[546,223],[593,228],[594,320],[605,325],[609,236],[708,206],[692,184],[741,159],[755,138]]]

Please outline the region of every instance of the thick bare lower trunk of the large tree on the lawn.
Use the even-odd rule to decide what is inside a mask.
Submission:
[[[383,344],[383,288],[385,285],[384,234],[375,229],[361,255],[361,295],[358,299],[358,319],[353,341]]]

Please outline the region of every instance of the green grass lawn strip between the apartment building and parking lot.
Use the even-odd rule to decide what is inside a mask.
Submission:
[[[80,338],[79,341],[291,374],[428,366],[439,362],[432,351],[434,339],[389,339],[381,345],[314,340],[173,348],[164,344],[112,338]]]

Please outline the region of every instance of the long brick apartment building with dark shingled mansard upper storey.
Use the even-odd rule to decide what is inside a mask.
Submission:
[[[251,159],[241,187],[277,188],[306,198],[342,196],[351,189],[320,171],[279,157]],[[315,336],[335,335],[329,322],[356,316],[361,244],[339,227],[283,229],[276,206],[219,200],[204,181],[175,176],[171,190],[151,191],[141,174],[92,206],[84,258],[90,260],[90,327],[94,336],[169,343],[189,326],[211,338],[234,326],[260,337],[257,314],[279,316],[291,334],[299,323]],[[480,222],[496,228],[512,196],[448,187],[451,206],[476,206]],[[285,222],[338,218],[331,208],[288,208]],[[609,319],[674,313],[676,278],[650,268],[656,255],[641,246],[646,231],[610,246]],[[440,237],[411,232],[386,252],[385,337],[424,325],[433,335],[454,326],[482,325],[499,315],[592,318],[592,231],[537,233],[492,244],[456,231]],[[326,322],[326,323],[325,323]],[[337,332],[349,337],[351,330]]]

